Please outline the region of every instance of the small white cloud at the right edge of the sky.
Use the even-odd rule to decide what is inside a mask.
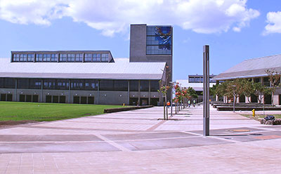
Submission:
[[[281,33],[281,11],[269,12],[266,18],[268,25],[266,25],[263,34]]]

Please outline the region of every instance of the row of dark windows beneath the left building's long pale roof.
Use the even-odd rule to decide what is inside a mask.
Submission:
[[[83,91],[128,91],[128,81],[125,80],[67,80],[67,79],[18,79],[17,88],[20,89],[53,89],[53,90],[83,90]],[[129,81],[129,91],[149,91],[149,81]],[[15,79],[0,78],[0,88],[15,88]],[[159,90],[158,81],[150,81],[150,91]]]

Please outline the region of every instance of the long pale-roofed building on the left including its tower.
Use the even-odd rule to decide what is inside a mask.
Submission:
[[[131,25],[129,59],[113,58],[110,51],[11,51],[11,58],[0,59],[0,100],[159,105],[159,81],[171,73],[166,70],[171,31],[171,26]],[[138,46],[143,42],[144,50]]]

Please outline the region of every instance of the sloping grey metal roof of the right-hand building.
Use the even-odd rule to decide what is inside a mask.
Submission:
[[[281,71],[281,55],[270,55],[263,58],[244,60],[217,76],[213,80],[227,80],[237,78],[251,78],[268,76],[267,69]]]

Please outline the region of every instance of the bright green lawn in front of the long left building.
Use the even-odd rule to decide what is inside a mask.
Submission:
[[[54,121],[103,114],[121,105],[77,105],[32,102],[0,102],[0,121]]]

